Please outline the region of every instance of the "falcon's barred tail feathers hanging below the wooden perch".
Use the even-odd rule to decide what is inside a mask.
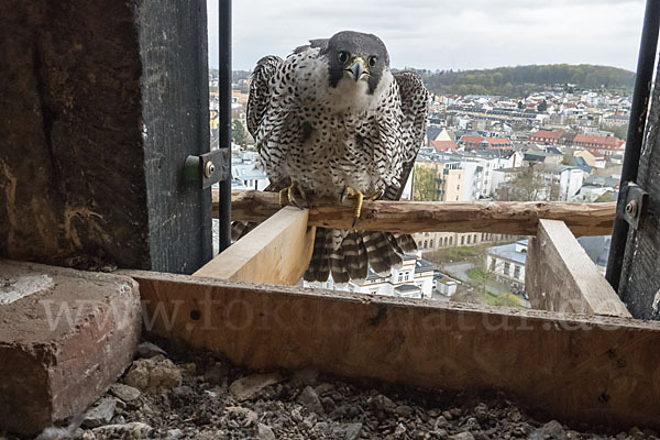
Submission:
[[[334,235],[344,235],[334,246]],[[330,273],[334,283],[365,279],[369,266],[378,274],[400,266],[400,254],[416,252],[417,245],[409,234],[374,231],[338,231],[317,228],[314,252],[305,280],[326,282]]]

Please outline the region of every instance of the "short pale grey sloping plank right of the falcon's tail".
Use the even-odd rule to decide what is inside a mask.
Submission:
[[[525,266],[525,288],[534,308],[630,317],[562,221],[539,221]]]

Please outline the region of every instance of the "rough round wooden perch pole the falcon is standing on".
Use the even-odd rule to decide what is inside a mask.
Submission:
[[[213,213],[218,197],[213,193]],[[316,204],[318,202],[318,205]],[[309,208],[309,226],[350,229],[350,201],[316,200]],[[277,194],[232,193],[232,219],[261,222],[279,210]],[[616,202],[569,204],[562,201],[364,201],[356,229],[389,232],[491,232],[535,235],[539,219],[561,220],[574,235],[608,235]]]

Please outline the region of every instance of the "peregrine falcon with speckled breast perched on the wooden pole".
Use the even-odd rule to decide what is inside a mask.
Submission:
[[[398,200],[424,140],[428,91],[414,72],[393,74],[375,35],[344,31],[312,40],[286,59],[258,61],[248,130],[280,202],[297,196]],[[238,239],[244,224],[234,224]],[[317,228],[309,282],[364,279],[417,250],[408,234]]]

